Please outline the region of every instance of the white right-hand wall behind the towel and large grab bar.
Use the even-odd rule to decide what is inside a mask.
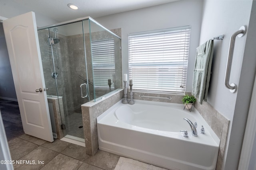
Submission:
[[[206,0],[204,2],[200,44],[204,43],[209,37],[224,34],[222,41],[214,41],[208,103],[231,120],[228,149],[225,152],[224,166],[222,167],[226,170],[238,168],[255,76],[255,47],[252,47],[256,43],[255,35],[252,31],[249,34],[248,31],[244,37],[236,38],[230,75],[230,83],[238,85],[236,93],[231,93],[224,86],[228,47],[231,35],[238,31],[240,26],[249,25],[251,8],[252,0]],[[253,28],[251,27],[252,30]]]

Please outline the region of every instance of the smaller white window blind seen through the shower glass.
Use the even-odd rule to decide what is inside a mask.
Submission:
[[[92,41],[92,67],[95,88],[109,88],[108,79],[115,73],[114,39]]]

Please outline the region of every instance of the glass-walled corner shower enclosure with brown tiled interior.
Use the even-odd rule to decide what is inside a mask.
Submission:
[[[90,17],[39,28],[38,37],[47,96],[59,100],[63,134],[84,142],[81,105],[122,88],[121,39]]]

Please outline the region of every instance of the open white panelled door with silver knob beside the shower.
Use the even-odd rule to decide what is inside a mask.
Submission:
[[[35,14],[4,20],[3,26],[24,133],[52,142]]]

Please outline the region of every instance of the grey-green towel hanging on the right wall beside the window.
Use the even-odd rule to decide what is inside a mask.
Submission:
[[[196,61],[193,72],[192,95],[199,104],[207,101],[210,82],[214,40],[210,39],[196,48]]]

